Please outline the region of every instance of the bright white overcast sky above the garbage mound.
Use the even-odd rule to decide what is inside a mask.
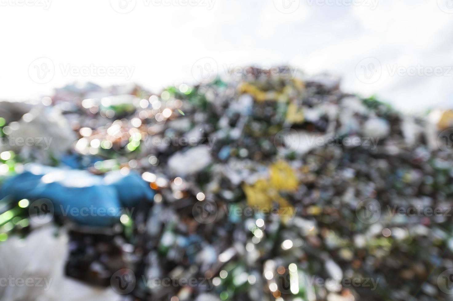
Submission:
[[[290,64],[402,110],[453,107],[453,0],[0,0],[0,25],[0,99]]]

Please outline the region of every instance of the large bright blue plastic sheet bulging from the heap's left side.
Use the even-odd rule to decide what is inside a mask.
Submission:
[[[152,201],[154,191],[135,172],[96,176],[84,170],[29,164],[4,182],[0,198],[7,196],[14,201],[48,199],[56,215],[84,225],[109,226],[140,200]]]

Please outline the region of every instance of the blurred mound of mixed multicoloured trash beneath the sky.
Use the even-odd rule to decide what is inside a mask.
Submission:
[[[125,300],[452,300],[451,119],[439,128],[287,70],[160,94],[57,89],[2,121],[5,137],[59,124],[51,147],[4,151],[0,171],[41,162],[149,182],[154,203],[108,231],[71,228],[67,274],[126,275],[131,288],[112,284]],[[0,239],[30,228],[21,216],[0,215]]]

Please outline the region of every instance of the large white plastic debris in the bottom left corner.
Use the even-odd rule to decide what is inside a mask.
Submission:
[[[55,235],[57,234],[57,235]],[[64,276],[68,237],[45,226],[25,239],[10,237],[0,248],[0,301],[119,301],[111,288],[91,287]]]

